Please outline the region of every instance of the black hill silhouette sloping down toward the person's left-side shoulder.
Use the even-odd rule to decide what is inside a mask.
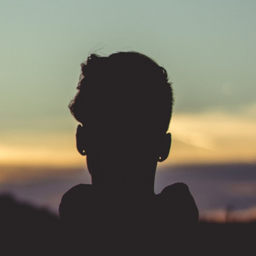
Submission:
[[[0,195],[0,254],[41,255],[39,245],[45,240],[45,230],[57,219],[47,209],[20,203],[8,194]]]

